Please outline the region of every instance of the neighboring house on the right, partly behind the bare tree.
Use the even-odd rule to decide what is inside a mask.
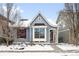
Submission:
[[[64,20],[62,20],[64,17],[61,16],[62,13],[59,13],[58,19],[56,21],[58,25],[58,42],[59,43],[69,43],[69,29],[65,23]]]

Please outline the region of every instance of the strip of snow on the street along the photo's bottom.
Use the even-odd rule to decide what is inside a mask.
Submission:
[[[34,57],[34,56],[35,56],[35,58],[37,58],[37,56],[39,56],[39,57],[44,57],[44,59],[48,59],[47,57],[49,56],[50,59],[53,59],[53,56],[55,56],[55,57],[56,56],[57,57],[58,56],[79,56],[79,53],[55,53],[55,52],[36,52],[36,53],[35,52],[28,52],[28,53],[27,52],[25,52],[25,53],[7,53],[7,52],[5,52],[5,53],[2,53],[2,52],[0,52],[0,56],[19,56],[19,57],[25,56],[25,59],[26,58],[29,59],[29,57]],[[33,58],[31,58],[31,59],[33,59]],[[40,58],[38,58],[38,59],[40,59]],[[59,59],[59,57],[58,57],[58,59]]]

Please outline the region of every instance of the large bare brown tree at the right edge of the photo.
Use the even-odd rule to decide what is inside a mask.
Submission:
[[[61,11],[62,20],[65,21],[70,29],[70,39],[73,44],[77,45],[79,41],[79,4],[65,3],[64,11]]]

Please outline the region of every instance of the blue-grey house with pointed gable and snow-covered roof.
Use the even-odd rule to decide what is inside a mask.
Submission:
[[[40,12],[32,20],[21,19],[10,27],[14,29],[14,42],[58,43],[57,25]]]

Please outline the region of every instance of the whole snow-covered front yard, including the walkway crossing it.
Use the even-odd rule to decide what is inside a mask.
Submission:
[[[58,47],[58,48],[57,48]],[[60,51],[63,52],[79,52],[79,46],[72,44],[58,44],[58,45],[27,45],[27,44],[15,44],[10,46],[0,45],[0,51]]]

